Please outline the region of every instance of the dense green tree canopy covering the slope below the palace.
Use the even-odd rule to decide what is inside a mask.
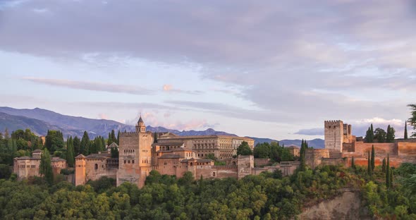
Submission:
[[[324,166],[240,180],[195,181],[191,173],[176,179],[151,171],[141,189],[130,183],[116,188],[109,178],[77,187],[42,181],[0,181],[0,219],[295,219],[303,204],[331,198],[358,180],[341,167]]]

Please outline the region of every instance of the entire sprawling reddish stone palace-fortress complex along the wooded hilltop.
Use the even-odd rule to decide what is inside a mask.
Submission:
[[[366,143],[362,137],[352,135],[352,126],[343,121],[325,121],[325,148],[306,149],[305,164],[312,169],[319,165],[343,164],[350,166],[354,158],[356,165],[367,166],[367,155],[374,145],[375,163],[389,154],[391,166],[404,162],[416,163],[416,139],[396,139],[392,143]],[[251,149],[254,140],[226,135],[178,136],[173,133],[152,133],[146,131],[142,118],[137,121],[135,132],[120,135],[119,146],[113,143],[109,147],[118,147],[119,157],[111,158],[109,152],[78,155],[75,157],[75,176],[71,182],[83,185],[89,180],[103,176],[116,179],[117,185],[124,182],[145,185],[146,177],[152,170],[180,178],[190,171],[194,178],[243,178],[258,175],[263,171],[281,170],[283,175],[292,174],[300,166],[299,161],[286,161],[274,166],[267,166],[268,159],[255,159],[251,156],[238,156],[238,146],[247,142]],[[109,148],[108,147],[108,148]],[[294,156],[299,156],[299,148],[289,147]],[[40,150],[34,151],[32,157],[14,159],[13,172],[18,179],[39,176]],[[221,159],[225,165],[216,166],[214,161],[206,159],[208,154]],[[54,173],[66,169],[66,161],[59,158],[51,160]]]

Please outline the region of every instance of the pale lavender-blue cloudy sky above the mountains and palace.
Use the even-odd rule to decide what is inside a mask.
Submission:
[[[0,106],[277,140],[342,120],[400,138],[415,27],[410,0],[0,0]]]

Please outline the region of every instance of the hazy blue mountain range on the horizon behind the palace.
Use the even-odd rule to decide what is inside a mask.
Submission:
[[[49,111],[47,109],[13,109],[10,107],[0,107],[0,130],[8,128],[11,133],[13,130],[30,128],[33,133],[37,135],[46,135],[47,130],[61,130],[64,137],[68,135],[82,137],[82,134],[87,130],[90,138],[98,135],[107,137],[111,130],[127,130],[134,131],[134,126],[128,126],[117,121],[105,119],[92,119],[76,116],[66,116],[63,114]],[[147,130],[152,132],[170,132],[176,135],[233,135],[224,131],[217,131],[212,128],[207,130],[173,130],[164,127],[147,126]],[[255,138],[248,137],[255,140],[255,145],[261,142],[277,142],[269,138]],[[296,145],[300,146],[301,140],[280,140],[281,144],[285,146]],[[308,140],[311,147],[323,148],[324,140],[314,139]]]

